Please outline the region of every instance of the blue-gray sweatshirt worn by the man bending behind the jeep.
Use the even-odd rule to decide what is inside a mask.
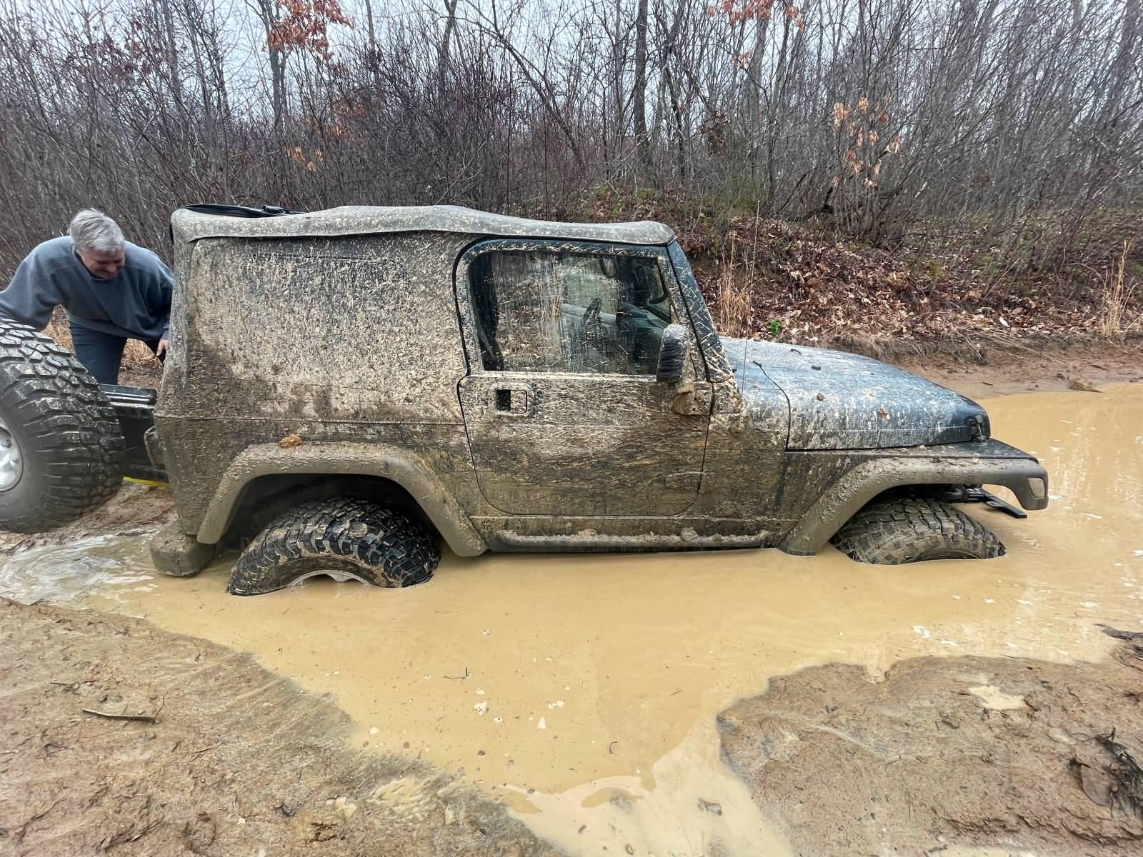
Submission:
[[[127,242],[123,266],[110,280],[91,277],[66,235],[38,246],[0,291],[0,315],[37,330],[63,306],[90,330],[128,339],[170,337],[170,269],[144,247]]]

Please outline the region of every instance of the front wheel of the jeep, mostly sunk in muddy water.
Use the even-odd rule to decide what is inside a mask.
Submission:
[[[929,497],[873,500],[830,539],[849,559],[896,566],[924,560],[986,560],[1004,544],[980,521]]]

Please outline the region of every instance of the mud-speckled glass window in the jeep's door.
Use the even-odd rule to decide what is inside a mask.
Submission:
[[[655,374],[672,317],[654,258],[493,250],[469,280],[485,369]]]

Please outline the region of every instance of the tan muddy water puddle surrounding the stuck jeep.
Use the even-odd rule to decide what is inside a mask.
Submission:
[[[446,555],[408,590],[315,579],[242,599],[225,592],[226,563],[163,578],[145,539],[96,537],[10,559],[0,594],[251,651],[331,692],[359,745],[463,770],[569,854],[719,839],[733,854],[781,855],[714,729],[770,676],[840,662],[873,680],[919,655],[1089,660],[1113,642],[1098,623],[1143,627],[1143,385],[986,405],[997,436],[1052,479],[1052,505],[1028,520],[969,507],[1008,546],[990,561],[876,567],[832,548]],[[972,692],[1006,702],[1002,688]]]

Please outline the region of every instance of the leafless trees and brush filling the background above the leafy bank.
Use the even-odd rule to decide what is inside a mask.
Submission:
[[[167,253],[191,201],[562,217],[604,183],[1090,261],[1141,201],[1141,31],[1140,0],[7,3],[0,261],[82,206]]]

